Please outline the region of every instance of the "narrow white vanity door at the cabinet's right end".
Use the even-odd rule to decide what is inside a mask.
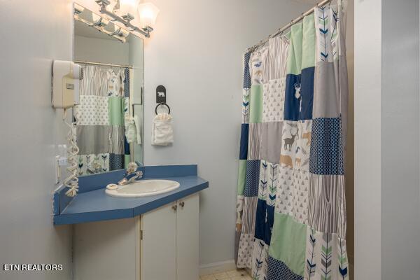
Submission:
[[[178,201],[176,214],[176,280],[198,280],[199,197]]]

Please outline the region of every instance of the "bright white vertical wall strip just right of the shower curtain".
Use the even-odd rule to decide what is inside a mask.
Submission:
[[[354,18],[354,278],[379,280],[381,0],[356,0]]]

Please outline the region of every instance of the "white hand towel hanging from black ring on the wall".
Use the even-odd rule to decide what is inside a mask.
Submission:
[[[158,113],[152,124],[152,145],[167,146],[172,143],[174,143],[172,116],[167,113]]]

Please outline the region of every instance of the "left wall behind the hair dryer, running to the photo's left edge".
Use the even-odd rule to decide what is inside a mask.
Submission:
[[[45,9],[45,7],[48,7]],[[62,272],[0,279],[71,279],[71,230],[52,225],[53,156],[65,143],[51,107],[52,59],[71,59],[69,1],[1,1],[0,263],[62,264]]]

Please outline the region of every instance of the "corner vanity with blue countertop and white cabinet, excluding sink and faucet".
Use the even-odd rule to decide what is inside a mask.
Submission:
[[[82,176],[71,200],[54,195],[55,225],[73,224],[76,280],[197,280],[199,195],[209,182],[197,165],[146,166],[142,180],[171,180],[179,188],[146,197],[113,197],[106,185],[124,170]]]

